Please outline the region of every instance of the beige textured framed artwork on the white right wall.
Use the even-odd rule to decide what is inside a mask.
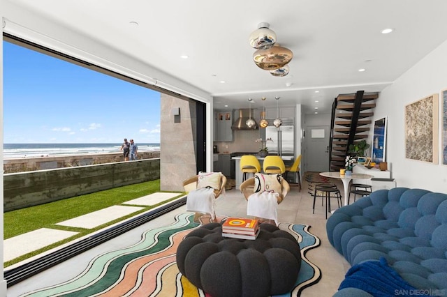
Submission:
[[[438,94],[405,106],[405,158],[438,164],[438,118]]]

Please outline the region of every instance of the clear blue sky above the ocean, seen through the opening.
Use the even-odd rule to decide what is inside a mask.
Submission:
[[[160,142],[160,93],[3,42],[4,143]]]

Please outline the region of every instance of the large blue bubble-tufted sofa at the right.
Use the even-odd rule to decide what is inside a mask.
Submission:
[[[378,190],[335,211],[326,231],[351,265],[383,257],[411,286],[447,294],[446,194]],[[360,296],[349,289],[336,295]]]

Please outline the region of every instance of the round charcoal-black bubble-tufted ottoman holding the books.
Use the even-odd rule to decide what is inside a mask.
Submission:
[[[256,297],[293,289],[301,267],[300,245],[286,231],[260,224],[256,240],[222,236],[219,223],[205,224],[177,248],[177,266],[194,286],[213,297]]]

